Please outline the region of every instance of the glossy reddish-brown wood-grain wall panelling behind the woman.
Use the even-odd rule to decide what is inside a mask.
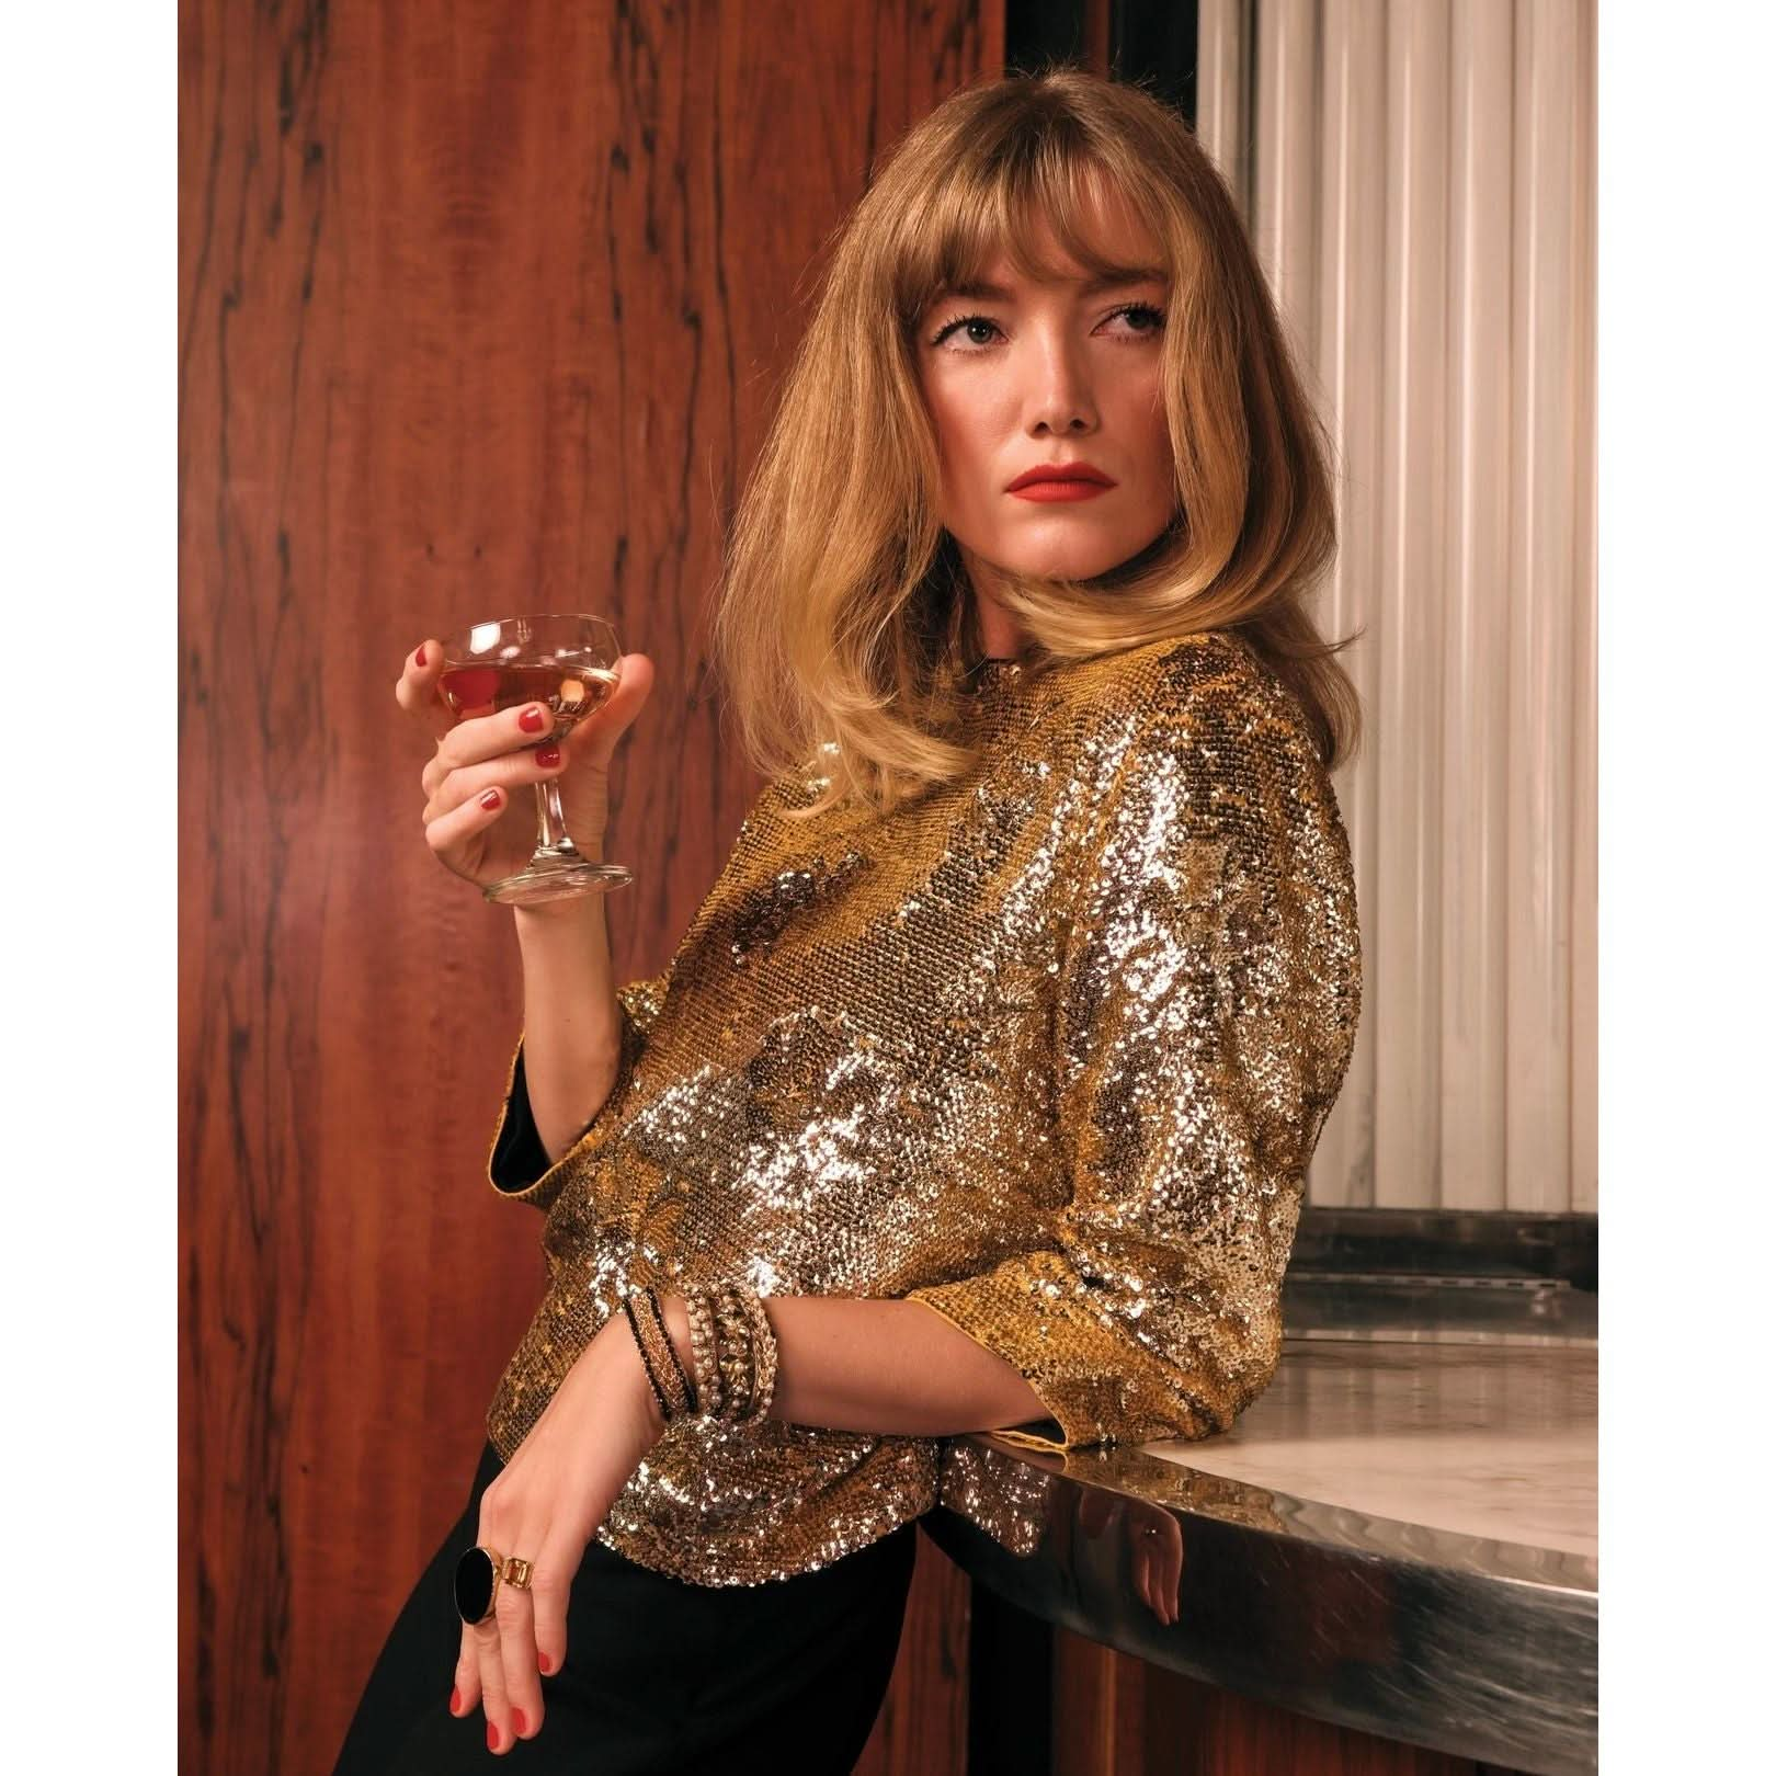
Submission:
[[[1002,5],[181,0],[181,1769],[330,1767],[540,1293],[510,915],[424,845],[401,657],[590,607],[654,659],[659,968],[757,790],[709,595],[821,245]],[[872,1769],[957,1767],[959,1582],[922,1545]]]

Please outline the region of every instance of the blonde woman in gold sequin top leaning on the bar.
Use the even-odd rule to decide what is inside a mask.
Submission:
[[[940,1439],[1202,1437],[1265,1387],[1359,1012],[1330,551],[1181,121],[1062,69],[920,123],[726,561],[767,789],[654,980],[613,991],[599,897],[513,913],[488,1179],[551,1282],[337,1776],[847,1771]],[[543,776],[602,835],[645,655],[558,751],[449,726],[439,664],[398,686],[439,860],[517,868]]]

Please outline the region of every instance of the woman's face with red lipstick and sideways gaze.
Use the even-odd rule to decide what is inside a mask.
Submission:
[[[1099,242],[1119,261],[1144,231],[1099,208]],[[979,286],[940,297],[920,316],[918,371],[938,433],[940,522],[961,547],[975,591],[993,568],[1090,579],[1146,549],[1177,503],[1160,391],[1163,275],[1092,288],[1053,236],[1034,282],[1000,256]],[[1101,481],[1035,481],[1032,469],[1085,465]],[[986,613],[982,613],[986,614]]]

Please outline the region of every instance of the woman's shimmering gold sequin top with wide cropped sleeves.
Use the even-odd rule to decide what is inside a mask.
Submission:
[[[741,826],[611,1096],[554,1165],[511,1057],[488,1181],[549,1286],[487,1428],[510,1460],[622,1295],[733,1279],[920,1300],[1064,1451],[1225,1430],[1265,1387],[1304,1172],[1350,1060],[1350,842],[1243,639],[977,670],[964,780]],[[599,1538],[693,1584],[829,1565],[927,1511],[940,1439],[678,1419]]]

